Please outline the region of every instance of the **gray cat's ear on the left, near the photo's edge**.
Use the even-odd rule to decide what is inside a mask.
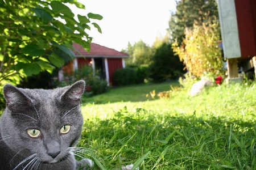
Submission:
[[[25,105],[31,104],[31,100],[11,84],[5,84],[3,86],[3,96],[5,96],[6,106],[13,111],[16,109],[22,110]]]

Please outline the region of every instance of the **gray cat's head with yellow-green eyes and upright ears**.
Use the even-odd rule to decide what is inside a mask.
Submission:
[[[6,109],[1,135],[15,153],[36,153],[41,162],[55,163],[67,158],[68,147],[74,147],[82,131],[81,95],[85,82],[55,90],[30,90],[11,84],[3,87]]]

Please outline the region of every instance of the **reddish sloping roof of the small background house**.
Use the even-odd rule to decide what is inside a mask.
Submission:
[[[123,52],[118,52],[117,50],[108,48],[106,46],[98,45],[95,43],[90,43],[90,53],[88,53],[81,45],[73,43],[73,47],[77,49],[80,53],[73,51],[75,53],[75,57],[90,57],[90,58],[127,58],[128,54]]]

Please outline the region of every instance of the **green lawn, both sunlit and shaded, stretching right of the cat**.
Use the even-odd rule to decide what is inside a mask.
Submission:
[[[80,146],[94,150],[105,169],[135,162],[140,169],[256,169],[255,86],[223,84],[158,100],[144,95],[170,83],[113,89],[94,97],[103,104],[82,107]]]

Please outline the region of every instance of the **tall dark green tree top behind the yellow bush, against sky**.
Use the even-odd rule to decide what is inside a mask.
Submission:
[[[218,19],[216,0],[183,0],[176,2],[176,12],[171,14],[168,28],[173,42],[177,39],[180,44],[185,36],[185,27],[192,28],[194,22],[201,25],[208,17],[217,16]],[[205,18],[206,15],[207,18]]]

